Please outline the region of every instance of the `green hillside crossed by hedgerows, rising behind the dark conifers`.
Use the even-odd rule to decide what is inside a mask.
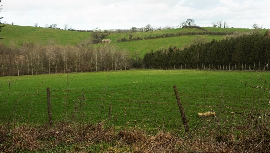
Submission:
[[[213,32],[251,32],[253,29],[238,29],[238,28],[214,28],[214,27],[204,27],[204,29]],[[168,29],[160,31],[151,31],[151,32],[135,32],[131,33],[132,37],[144,37],[145,36],[157,36],[166,33],[177,33],[177,32],[200,32],[201,29],[194,28],[180,28],[180,29]],[[267,29],[260,29],[259,32],[264,34]],[[117,45],[121,49],[126,49],[130,53],[130,57],[134,51],[139,51],[140,56],[143,57],[146,52],[151,50],[165,49],[170,46],[184,47],[185,45],[193,44],[194,41],[211,41],[212,39],[221,40],[225,36],[215,36],[215,35],[194,35],[194,36],[178,36],[178,37],[169,37],[169,38],[160,38],[160,39],[150,39],[150,40],[140,40],[140,41],[127,41],[127,42],[118,42],[117,39],[126,37],[129,39],[129,33],[111,33],[107,35],[104,39],[111,39],[112,45]]]

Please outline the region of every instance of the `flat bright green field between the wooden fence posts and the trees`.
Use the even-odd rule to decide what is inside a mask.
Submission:
[[[211,111],[208,106],[220,120],[230,118],[231,114],[224,111],[263,113],[267,110],[268,92],[241,83],[265,86],[256,79],[257,75],[270,82],[269,72],[201,70],[127,70],[1,77],[0,117],[2,122],[46,123],[46,88],[50,87],[54,121],[65,120],[67,110],[68,121],[115,122],[115,126],[124,127],[125,123],[132,126],[136,120],[138,126],[172,129],[182,124],[173,90],[176,85],[190,126],[195,127],[201,121],[198,113]],[[69,82],[68,89],[66,82]]]

